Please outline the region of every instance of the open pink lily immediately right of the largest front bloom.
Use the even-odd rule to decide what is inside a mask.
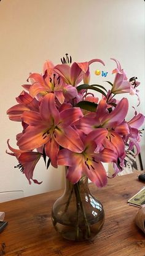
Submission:
[[[108,134],[103,140],[102,149],[108,148],[114,150],[121,157],[125,150],[123,135],[129,134],[128,124],[124,121],[128,112],[128,100],[127,98],[122,98],[111,113],[109,113],[107,107],[106,101],[100,100],[95,117],[93,113],[92,116],[91,114],[90,116],[84,116],[74,124],[78,129],[85,132],[85,134],[89,134],[89,132],[99,127],[106,128]],[[100,149],[97,148],[96,151]]]

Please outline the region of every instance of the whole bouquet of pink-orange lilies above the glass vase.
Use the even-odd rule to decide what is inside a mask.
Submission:
[[[11,153],[18,160],[18,167],[28,178],[33,178],[34,167],[44,158],[48,168],[67,166],[66,177],[72,183],[79,182],[83,174],[101,187],[108,177],[102,162],[113,162],[114,177],[122,170],[124,159],[133,146],[139,153],[144,116],[136,113],[130,121],[128,100],[116,100],[116,94],[138,95],[136,77],[128,79],[120,63],[112,58],[117,68],[112,71],[114,81],[110,89],[99,84],[90,84],[89,62],[72,63],[71,57],[61,58],[61,64],[53,65],[47,60],[43,73],[31,73],[24,84],[25,90],[16,98],[17,105],[7,110],[12,121],[22,123],[22,132],[17,134],[18,149]],[[26,92],[27,91],[27,92]],[[101,95],[101,99],[92,92]],[[139,100],[139,97],[138,97]],[[128,148],[125,145],[128,144]]]

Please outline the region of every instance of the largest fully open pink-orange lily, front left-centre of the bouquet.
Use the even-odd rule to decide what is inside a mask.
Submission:
[[[29,126],[17,145],[20,150],[33,150],[45,145],[45,154],[51,159],[52,166],[57,167],[59,145],[74,152],[83,150],[79,135],[71,127],[72,122],[82,116],[79,108],[59,112],[55,106],[55,95],[47,94],[41,101],[40,113],[23,113],[23,121]]]

